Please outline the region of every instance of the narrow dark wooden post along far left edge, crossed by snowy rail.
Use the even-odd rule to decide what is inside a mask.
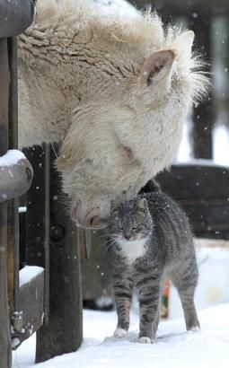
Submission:
[[[0,39],[0,156],[8,148],[10,74],[7,39]],[[0,174],[1,175],[1,174]],[[0,368],[11,367],[11,336],[7,293],[7,205],[0,204]]]

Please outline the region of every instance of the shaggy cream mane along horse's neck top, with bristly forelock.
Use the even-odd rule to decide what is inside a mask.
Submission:
[[[99,9],[75,0],[38,0],[34,22],[21,36],[19,46],[28,50],[43,46],[52,53],[56,50],[67,61],[67,57],[74,56],[75,48],[78,52],[79,48],[84,50],[88,43],[93,43],[102,45],[108,56],[115,52],[137,66],[154,51],[171,48],[177,54],[175,73],[178,77],[186,74],[193,101],[199,101],[209,87],[203,71],[206,65],[198,53],[186,49],[181,38],[184,32],[178,26],[163,27],[161,18],[150,9],[138,12],[136,17],[124,18],[118,14],[105,16]]]

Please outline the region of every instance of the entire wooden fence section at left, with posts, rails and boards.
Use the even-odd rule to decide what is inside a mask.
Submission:
[[[11,367],[12,348],[35,331],[36,362],[75,351],[83,335],[84,233],[57,200],[64,195],[53,152],[48,145],[24,151],[27,158],[8,151],[17,147],[18,136],[15,36],[30,25],[33,13],[31,0],[0,0],[0,368]],[[19,238],[18,197],[30,186]]]

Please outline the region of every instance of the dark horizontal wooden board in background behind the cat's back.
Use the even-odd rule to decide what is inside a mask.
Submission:
[[[229,169],[193,163],[173,165],[156,179],[189,216],[198,237],[229,239]]]

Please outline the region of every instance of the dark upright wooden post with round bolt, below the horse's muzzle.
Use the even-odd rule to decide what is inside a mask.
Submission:
[[[37,363],[75,351],[83,336],[79,244],[75,224],[57,200],[63,193],[54,169],[50,188],[49,319],[37,333]]]

